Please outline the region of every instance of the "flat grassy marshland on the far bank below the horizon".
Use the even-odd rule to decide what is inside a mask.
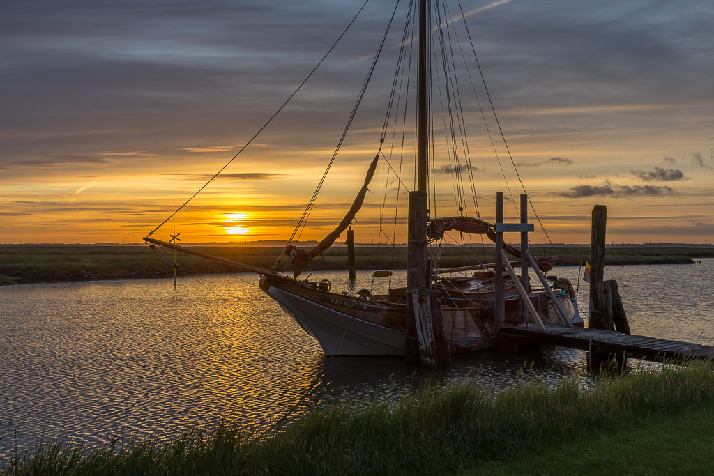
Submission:
[[[249,265],[271,268],[282,248],[264,246],[206,246],[199,250]],[[558,250],[560,265],[579,265],[589,248],[563,247]],[[535,248],[535,255],[558,254],[553,248]],[[169,261],[173,253],[164,250]],[[714,256],[714,248],[608,248],[606,264],[692,263],[692,258]],[[178,263],[186,273],[228,273],[226,265],[178,253]],[[493,248],[443,247],[441,266],[493,263]],[[347,248],[335,246],[315,258],[308,270],[344,270]],[[360,270],[406,268],[406,247],[357,246],[356,267]],[[161,278],[173,275],[171,263],[148,246],[134,245],[0,245],[0,285],[76,280]]]

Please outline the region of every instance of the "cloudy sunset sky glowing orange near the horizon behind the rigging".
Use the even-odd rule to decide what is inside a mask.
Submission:
[[[141,242],[248,143],[362,4],[4,0],[0,243]],[[168,239],[176,226],[184,243],[287,240],[331,161],[395,4],[368,1],[293,100],[154,237]],[[455,69],[476,80],[458,1],[446,5],[471,54]],[[461,204],[464,214],[493,221],[496,192],[504,191],[506,221],[518,221],[525,188],[547,232],[536,226],[535,243],[589,243],[596,204],[608,207],[608,243],[710,243],[714,4],[461,5],[498,124],[483,85],[473,90],[485,120],[463,80],[470,158],[456,163],[433,141],[433,215],[458,215]],[[396,9],[301,239],[336,226],[379,149],[407,6],[402,0]],[[433,82],[433,110],[441,111],[445,92]],[[434,123],[443,126],[443,117]],[[405,240],[413,130],[407,136],[401,186],[388,171],[386,160],[398,168],[398,153],[393,136],[386,139],[353,223],[359,242]],[[475,178],[461,201],[447,173],[455,168]]]

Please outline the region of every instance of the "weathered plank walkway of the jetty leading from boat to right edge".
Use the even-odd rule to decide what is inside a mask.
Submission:
[[[646,335],[628,335],[612,330],[568,327],[562,324],[548,324],[545,330],[540,330],[533,324],[508,325],[501,328],[499,335],[515,343],[560,345],[610,355],[624,353],[628,357],[655,362],[680,358],[714,358],[712,345],[658,339]]]

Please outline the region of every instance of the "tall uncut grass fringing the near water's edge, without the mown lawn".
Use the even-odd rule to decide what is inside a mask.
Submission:
[[[495,393],[471,380],[398,398],[338,402],[268,435],[231,425],[167,443],[136,440],[87,450],[40,442],[7,475],[441,474],[516,450],[626,429],[653,414],[714,403],[712,362],[602,378],[584,388],[529,380]]]

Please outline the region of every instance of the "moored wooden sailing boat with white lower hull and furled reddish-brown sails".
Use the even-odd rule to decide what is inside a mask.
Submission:
[[[443,240],[448,231],[486,234],[492,240],[497,240],[498,236],[495,226],[480,218],[461,215],[429,217],[429,39],[433,30],[429,3],[428,0],[418,1],[417,178],[416,190],[409,193],[406,287],[390,286],[388,292],[383,294],[372,294],[368,290],[349,293],[332,290],[328,280],[315,281],[309,280],[309,277],[298,279],[311,260],[329,248],[352,223],[375,174],[381,158],[381,146],[380,152],[368,167],[362,188],[336,229],[311,250],[303,250],[297,245],[286,246],[283,254],[289,258],[292,276],[277,268],[266,269],[237,263],[150,236],[146,236],[144,241],[152,247],[159,245],[180,250],[226,263],[241,272],[261,275],[261,289],[276,300],[306,333],[316,338],[326,355],[405,355],[409,345],[408,333],[413,332],[413,329],[409,329],[413,326],[410,324],[410,319],[413,319],[410,315],[414,313],[412,298],[418,295],[420,290],[430,290],[432,295],[436,296],[436,302],[431,305],[435,306],[435,315],[441,314],[440,325],[443,322],[448,349],[454,353],[493,347],[496,345],[498,325],[522,323],[524,313],[519,306],[519,295],[523,296],[523,301],[532,301],[538,306],[537,309],[531,306],[531,318],[537,318],[540,325],[543,321],[563,321],[568,325],[582,323],[577,308],[573,305],[573,286],[568,280],[543,279],[543,288],[540,290],[535,287],[526,291],[522,288],[518,290],[521,286],[520,278],[508,262],[508,271],[502,276],[498,256],[496,265],[491,264],[491,269],[488,265],[481,264],[450,269],[433,268],[431,265],[428,245]],[[407,31],[408,29],[405,29],[405,38],[408,37]],[[383,141],[382,137],[381,143]],[[460,211],[462,210],[463,208],[460,208]],[[504,248],[522,260],[532,260],[526,250],[521,256],[521,250],[518,248],[509,245]],[[548,271],[557,260],[557,257],[540,258],[531,263],[540,270]],[[476,274],[467,277],[452,276],[453,273],[470,270],[476,270]],[[496,297],[499,293],[503,295],[503,300],[500,301],[503,302],[501,323],[496,320]]]

